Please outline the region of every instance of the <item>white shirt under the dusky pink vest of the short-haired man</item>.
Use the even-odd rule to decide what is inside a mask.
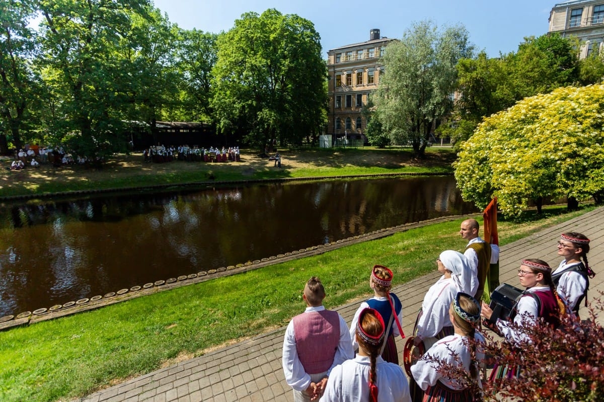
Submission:
[[[323,310],[325,310],[325,307],[322,305],[318,307],[306,307],[304,313]],[[329,375],[329,372],[336,365],[355,357],[355,351],[352,349],[352,343],[350,343],[348,326],[346,325],[346,322],[342,316],[339,314],[338,316],[340,327],[338,348],[336,349],[336,354],[333,357],[332,366],[327,371],[327,375]],[[306,388],[308,388],[310,385],[310,375],[304,371],[304,367],[302,366],[300,358],[298,357],[298,351],[296,349],[296,334],[294,331],[294,320],[289,322],[288,328],[285,330],[282,363],[283,374],[285,375],[285,381],[288,383],[288,385],[296,391],[306,390]]]

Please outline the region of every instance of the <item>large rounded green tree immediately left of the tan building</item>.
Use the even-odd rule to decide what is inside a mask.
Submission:
[[[318,133],[327,68],[312,22],[274,9],[246,13],[217,45],[211,106],[220,132],[243,132],[261,150]]]

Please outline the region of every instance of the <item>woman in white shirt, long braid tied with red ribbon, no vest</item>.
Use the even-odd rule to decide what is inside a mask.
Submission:
[[[384,336],[381,314],[361,310],[355,326],[359,353],[332,369],[321,402],[411,402],[402,368],[379,356]]]

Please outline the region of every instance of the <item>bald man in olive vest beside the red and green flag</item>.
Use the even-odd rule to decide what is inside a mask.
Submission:
[[[489,243],[478,235],[480,225],[475,219],[466,219],[461,222],[461,238],[468,241],[463,255],[467,258],[472,271],[471,291],[474,297],[480,300],[485,290],[486,279],[489,276],[491,248]],[[489,295],[489,288],[486,289]]]

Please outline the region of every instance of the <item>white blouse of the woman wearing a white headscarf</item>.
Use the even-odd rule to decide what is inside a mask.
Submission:
[[[445,275],[428,289],[422,302],[422,316],[417,322],[417,336],[422,339],[433,337],[443,327],[451,327],[449,308],[457,295],[457,287],[452,278]]]

